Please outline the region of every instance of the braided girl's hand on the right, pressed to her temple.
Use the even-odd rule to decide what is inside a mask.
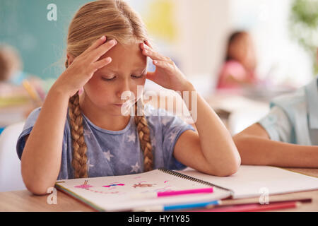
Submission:
[[[155,72],[148,72],[146,78],[164,88],[180,92],[188,90],[189,86],[192,86],[177,68],[175,62],[169,57],[163,57],[158,52],[155,52],[148,41],[141,43],[141,49],[143,50],[143,55],[150,57],[156,67]]]

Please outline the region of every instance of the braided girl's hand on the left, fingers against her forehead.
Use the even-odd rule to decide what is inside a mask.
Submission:
[[[59,76],[52,88],[72,97],[88,83],[98,69],[110,64],[112,62],[110,57],[105,59],[100,59],[100,57],[112,49],[117,42],[116,40],[106,42],[106,40],[107,38],[102,36],[76,57],[66,71]]]

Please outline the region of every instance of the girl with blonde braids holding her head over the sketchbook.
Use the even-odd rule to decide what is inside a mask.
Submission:
[[[168,89],[195,91],[175,64],[145,40],[145,26],[124,1],[93,1],[76,13],[69,27],[66,71],[42,109],[30,114],[18,139],[23,180],[33,194],[45,194],[57,179],[158,167],[187,165],[218,176],[237,172],[237,148],[200,95],[198,132],[177,117],[153,116],[163,109],[155,113],[151,106],[144,108],[148,116],[121,114],[122,93],[136,97],[146,78]],[[147,57],[156,66],[153,73],[146,71]],[[187,107],[192,109],[191,101]]]

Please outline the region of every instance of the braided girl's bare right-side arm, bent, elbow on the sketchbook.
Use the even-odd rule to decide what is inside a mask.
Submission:
[[[191,92],[196,93],[192,85],[187,91],[189,96]],[[216,112],[199,93],[196,95],[197,106],[192,105],[192,98],[189,98],[187,107],[192,115],[197,112],[197,132],[182,133],[175,145],[174,155],[179,162],[201,172],[220,177],[230,176],[240,167],[240,155]]]

